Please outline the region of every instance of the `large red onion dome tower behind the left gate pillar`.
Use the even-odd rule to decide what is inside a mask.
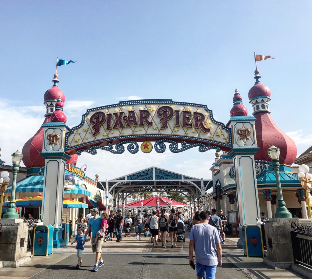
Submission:
[[[54,82],[53,86],[49,90],[47,90],[46,93],[44,94],[44,104],[46,105],[46,114],[43,124],[51,122],[52,115],[56,115],[55,117],[58,119],[64,119],[62,118],[60,112],[55,113],[55,110],[61,111],[63,113],[62,109],[64,107],[65,102],[65,95],[57,86],[57,83],[59,82],[58,75],[56,74],[54,75],[53,82]],[[58,100],[58,98],[60,100]],[[45,159],[42,158],[40,155],[42,145],[43,145],[43,128],[41,126],[39,130],[35,133],[35,135],[33,135],[32,138],[30,138],[24,144],[22,149],[23,163],[28,169],[34,167],[44,167]],[[76,165],[77,158],[78,155],[74,154],[71,156],[71,159],[69,159],[66,163]]]

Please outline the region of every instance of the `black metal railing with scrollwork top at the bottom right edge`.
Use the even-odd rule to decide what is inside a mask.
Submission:
[[[312,227],[291,223],[291,230],[294,263],[312,268]]]

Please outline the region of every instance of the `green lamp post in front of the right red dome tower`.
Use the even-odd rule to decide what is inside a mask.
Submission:
[[[276,212],[274,214],[275,218],[291,218],[291,213],[286,208],[285,200],[283,199],[282,194],[282,186],[280,184],[280,149],[274,145],[272,145],[268,149],[268,154],[272,161],[272,167],[275,170],[275,178],[276,178],[276,188],[277,188],[277,195],[278,195],[278,202]]]

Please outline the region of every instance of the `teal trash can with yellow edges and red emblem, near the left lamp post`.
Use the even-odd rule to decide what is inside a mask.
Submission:
[[[51,225],[39,225],[34,229],[33,256],[47,256],[52,254],[53,227]]]

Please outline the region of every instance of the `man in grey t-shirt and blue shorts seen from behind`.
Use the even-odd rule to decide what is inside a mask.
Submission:
[[[201,223],[194,225],[189,234],[189,261],[194,263],[195,250],[197,277],[215,278],[217,267],[222,265],[222,238],[217,228],[208,224],[209,213],[203,210],[200,213]],[[216,253],[216,250],[218,254]]]

